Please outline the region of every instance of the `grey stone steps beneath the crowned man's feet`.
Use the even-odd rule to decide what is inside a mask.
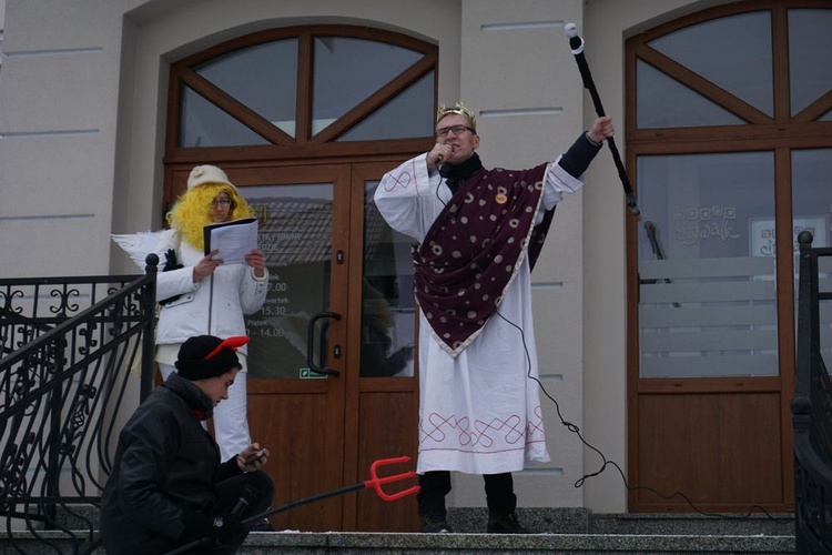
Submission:
[[[455,534],[409,534],[296,531],[254,532],[241,555],[450,555],[450,554],[788,554],[794,553],[793,514],[754,514],[724,518],[694,514],[596,515],[582,508],[518,508],[529,535],[485,534],[485,508],[451,508],[448,521]],[[65,535],[41,532],[74,553]],[[81,534],[83,535],[83,534]],[[30,533],[14,533],[22,553],[57,553]],[[0,555],[19,554],[0,534]],[[104,554],[103,548],[94,552]]]

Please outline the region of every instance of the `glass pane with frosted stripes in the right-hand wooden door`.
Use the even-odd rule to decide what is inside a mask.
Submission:
[[[640,377],[778,375],[774,157],[639,157]]]

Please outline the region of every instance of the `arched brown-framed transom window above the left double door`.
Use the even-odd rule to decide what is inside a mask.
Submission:
[[[378,152],[356,145],[371,141],[408,150],[409,139],[433,137],[436,63],[435,44],[362,27],[272,29],[225,42],[172,65],[168,154]]]

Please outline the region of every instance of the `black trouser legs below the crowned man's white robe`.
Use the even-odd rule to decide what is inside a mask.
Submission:
[[[517,508],[515,483],[510,472],[484,474],[486,504],[489,513],[508,514]],[[445,496],[450,493],[450,472],[433,471],[419,474],[419,493],[416,501],[419,514],[445,512]]]

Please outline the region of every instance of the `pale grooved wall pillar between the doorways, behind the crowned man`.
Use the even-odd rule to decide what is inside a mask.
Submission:
[[[480,112],[479,155],[487,168],[522,169],[554,160],[580,134],[581,88],[564,22],[580,21],[581,2],[464,0],[460,98]],[[571,65],[569,65],[571,64]],[[456,98],[440,98],[454,102]],[[532,273],[541,382],[566,417],[581,425],[582,195],[558,206]],[[572,487],[581,450],[541,397],[552,461],[515,474],[519,506],[581,506]],[[456,475],[454,505],[483,506],[479,476]]]

